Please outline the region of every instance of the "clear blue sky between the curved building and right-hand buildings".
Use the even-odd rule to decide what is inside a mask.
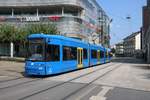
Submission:
[[[113,19],[111,23],[111,45],[121,42],[132,32],[142,27],[142,7],[146,0],[97,0],[106,14]],[[126,19],[130,16],[131,19]]]

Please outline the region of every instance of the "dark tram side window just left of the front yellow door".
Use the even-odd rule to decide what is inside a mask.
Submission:
[[[76,47],[63,47],[63,60],[77,60],[77,48]]]

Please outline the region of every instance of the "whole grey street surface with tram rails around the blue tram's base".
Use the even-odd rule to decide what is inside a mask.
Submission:
[[[49,77],[25,77],[23,66],[0,61],[0,100],[150,100],[150,69],[138,59]]]

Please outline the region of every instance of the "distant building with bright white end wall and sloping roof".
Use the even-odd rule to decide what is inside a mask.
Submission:
[[[124,56],[141,57],[141,32],[135,32],[124,39]]]

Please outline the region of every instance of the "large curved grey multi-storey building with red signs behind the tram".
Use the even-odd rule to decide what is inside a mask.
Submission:
[[[109,47],[109,17],[96,0],[0,0],[0,23],[53,22],[61,35]]]

